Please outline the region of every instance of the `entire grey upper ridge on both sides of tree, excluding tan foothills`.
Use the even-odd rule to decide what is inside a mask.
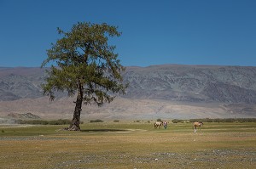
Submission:
[[[45,69],[0,67],[0,100],[43,97]],[[256,67],[150,65],[126,67],[125,98],[256,104]]]

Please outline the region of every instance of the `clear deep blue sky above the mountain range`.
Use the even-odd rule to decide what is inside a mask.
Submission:
[[[0,67],[38,67],[79,21],[119,26],[121,63],[256,66],[255,0],[0,0]]]

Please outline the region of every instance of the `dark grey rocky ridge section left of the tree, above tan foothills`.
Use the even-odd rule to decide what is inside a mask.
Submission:
[[[44,70],[40,68],[0,68],[0,100],[42,97],[43,82]]]

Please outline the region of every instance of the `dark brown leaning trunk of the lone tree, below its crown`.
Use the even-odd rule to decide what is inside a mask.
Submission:
[[[83,104],[83,90],[82,87],[79,87],[79,93],[76,101],[76,107],[73,112],[73,120],[71,121],[71,124],[69,127],[67,127],[67,130],[70,131],[80,131],[80,114],[81,114],[81,108]]]

